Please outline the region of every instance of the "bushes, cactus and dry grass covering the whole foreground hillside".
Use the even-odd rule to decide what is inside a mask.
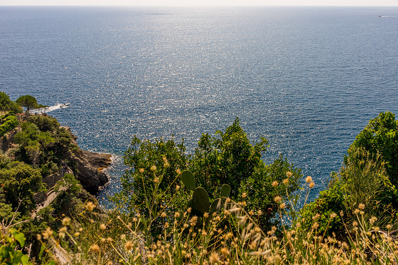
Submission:
[[[86,201],[67,174],[56,188],[61,195],[35,218],[26,213],[43,189],[40,175],[76,147],[48,116],[19,122],[16,145],[0,159],[1,183],[8,181],[0,187],[0,242],[10,250],[0,263],[398,263],[398,126],[390,112],[370,121],[328,189],[302,208],[299,196],[307,200],[312,178],[283,157],[265,164],[267,140],[251,144],[236,119],[216,136],[203,134],[192,155],[184,142],[134,137],[115,209],[105,214]],[[30,189],[12,180],[22,172]],[[32,251],[21,249],[25,242],[13,229]]]

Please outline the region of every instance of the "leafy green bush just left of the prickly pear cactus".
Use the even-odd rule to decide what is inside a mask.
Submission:
[[[141,141],[134,136],[131,147],[128,148],[124,156],[124,163],[129,169],[121,177],[122,190],[116,194],[114,199],[126,205],[129,211],[142,211],[148,216],[149,213],[145,211],[144,186],[152,185],[154,173],[165,169],[159,190],[164,191],[169,188],[170,193],[174,193],[176,184],[181,185],[177,170],[184,170],[187,165],[188,157],[185,151],[184,142],[176,145],[174,140],[160,139],[152,143],[149,140]],[[155,166],[152,168],[154,171],[151,171],[152,166]],[[142,173],[140,173],[141,169]],[[178,207],[182,209],[185,202],[181,203],[183,204]]]

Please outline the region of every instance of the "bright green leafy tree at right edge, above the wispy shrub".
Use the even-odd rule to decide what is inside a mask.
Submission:
[[[386,162],[387,175],[393,185],[398,186],[398,120],[389,111],[369,121],[348,149],[348,156],[357,148],[363,148],[374,157],[379,153]],[[345,157],[345,163],[347,162]]]

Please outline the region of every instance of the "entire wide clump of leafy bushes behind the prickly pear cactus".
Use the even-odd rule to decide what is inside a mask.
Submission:
[[[219,137],[203,134],[193,156],[185,153],[183,142],[176,146],[173,140],[166,142],[160,139],[152,143],[134,137],[125,154],[125,164],[130,168],[121,178],[122,191],[116,195],[115,200],[119,204],[125,200],[127,209],[148,216],[144,187],[159,181],[154,179],[154,173],[164,170],[159,190],[168,189],[168,193],[174,194],[177,191],[176,185],[182,185],[178,173],[189,169],[197,180],[196,186],[204,188],[210,198],[220,196],[223,184],[231,186],[230,197],[233,200],[240,200],[244,192],[246,195],[249,194],[248,201],[252,201],[251,205],[264,212],[264,215],[256,213],[262,216],[261,225],[269,228],[273,224],[270,218],[278,209],[274,202],[278,191],[269,192],[272,182],[282,182],[287,178],[286,173],[292,172],[288,183],[281,187],[281,190],[287,188],[289,192],[294,192],[299,187],[298,178],[302,177],[300,170],[295,169],[282,157],[274,164],[265,165],[261,154],[265,151],[268,141],[261,138],[259,143],[250,144],[238,118],[224,132],[217,131],[216,134]],[[191,194],[192,191],[186,187],[179,190],[176,195],[179,198],[174,199],[170,210],[184,211]],[[283,199],[286,199],[285,194],[286,191],[281,195]],[[162,202],[158,202],[158,206],[161,207]]]

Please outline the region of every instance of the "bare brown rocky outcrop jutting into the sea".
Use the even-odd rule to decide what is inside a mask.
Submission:
[[[66,128],[70,132],[70,128]],[[76,140],[77,137],[71,133],[72,137]],[[77,145],[76,141],[74,144]],[[76,162],[76,167],[71,167],[77,170],[76,178],[84,189],[95,195],[99,187],[108,182],[108,177],[102,172],[103,169],[109,167],[111,163],[111,155],[92,153],[85,150],[74,150],[68,152],[66,160]]]

